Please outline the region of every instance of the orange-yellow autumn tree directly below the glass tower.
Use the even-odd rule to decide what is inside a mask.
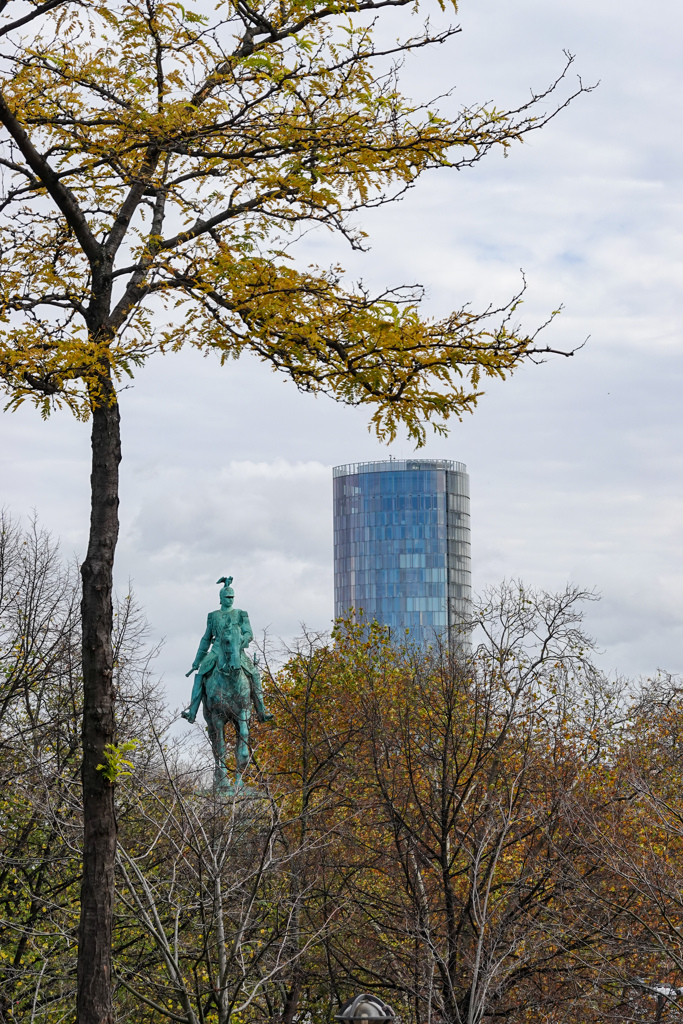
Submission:
[[[302,945],[318,936],[290,979],[300,1016],[358,990],[414,1024],[609,1012],[595,980],[613,915],[586,894],[613,876],[573,819],[603,811],[591,785],[623,707],[591,660],[590,596],[506,584],[473,613],[471,655],[344,624],[267,680],[256,760],[298,787],[318,851],[296,880]]]

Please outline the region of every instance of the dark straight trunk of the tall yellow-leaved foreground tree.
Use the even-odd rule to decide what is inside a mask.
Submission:
[[[113,743],[114,552],[119,537],[119,407],[111,383],[92,414],[90,538],[83,578],[83,880],[78,932],[78,1024],[113,1024],[114,785],[97,771]]]

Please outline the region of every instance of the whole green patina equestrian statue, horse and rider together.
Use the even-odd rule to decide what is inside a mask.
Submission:
[[[234,592],[230,587],[232,577],[221,577],[220,608],[210,611],[199,650],[187,673],[196,672],[189,708],[182,712],[188,722],[197,718],[203,706],[209,739],[216,762],[214,784],[217,790],[229,791],[225,767],[225,726],[234,726],[234,759],[238,766],[236,790],[242,787],[242,773],[249,763],[249,720],[252,702],[259,722],[272,719],[263,705],[261,676],[257,655],[252,660],[246,652],[254,639],[249,615],[233,608]]]

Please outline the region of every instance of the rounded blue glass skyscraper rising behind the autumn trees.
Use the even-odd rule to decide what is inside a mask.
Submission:
[[[457,628],[471,597],[463,463],[360,462],[333,478],[335,616],[362,609],[416,640]]]

